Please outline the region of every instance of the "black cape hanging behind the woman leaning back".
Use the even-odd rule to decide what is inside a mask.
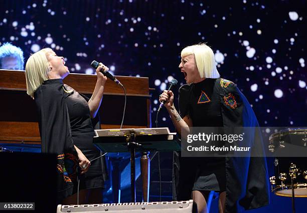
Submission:
[[[57,199],[60,202],[73,193],[78,165],[62,79],[45,81],[35,91],[34,100],[39,113],[42,152],[57,154]]]

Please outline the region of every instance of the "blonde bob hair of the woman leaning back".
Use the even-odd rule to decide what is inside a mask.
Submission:
[[[53,52],[50,48],[42,49],[30,56],[26,64],[27,94],[34,98],[34,92],[44,81],[48,80],[50,67],[47,53]]]

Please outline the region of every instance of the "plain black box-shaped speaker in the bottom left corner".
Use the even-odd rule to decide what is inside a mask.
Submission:
[[[34,202],[35,210],[27,212],[56,212],[56,154],[0,152],[0,162],[0,202]]]

